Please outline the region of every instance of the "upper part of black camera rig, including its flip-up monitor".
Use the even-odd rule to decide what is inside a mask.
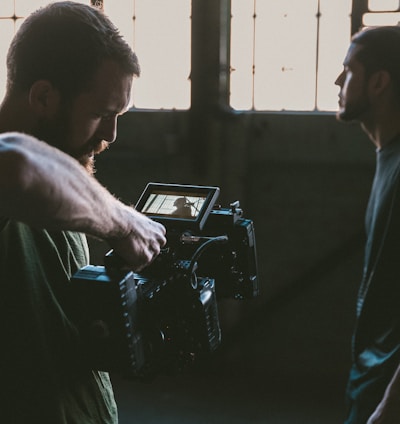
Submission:
[[[176,261],[196,260],[198,274],[215,279],[219,299],[253,298],[259,291],[254,223],[243,218],[238,201],[216,205],[218,195],[218,187],[147,185],[136,208],[166,227],[168,241],[145,272],[164,276]]]

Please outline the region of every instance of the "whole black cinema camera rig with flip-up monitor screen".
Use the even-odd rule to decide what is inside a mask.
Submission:
[[[113,252],[71,279],[73,320],[94,369],[134,378],[181,370],[221,343],[217,299],[258,295],[253,222],[218,187],[149,183],[136,209],[167,245],[140,274]]]

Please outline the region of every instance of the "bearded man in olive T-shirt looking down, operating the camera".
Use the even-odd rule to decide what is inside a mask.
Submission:
[[[58,2],[29,16],[7,56],[0,106],[0,420],[116,424],[111,382],[82,359],[70,277],[89,261],[86,234],[133,270],[165,228],[93,177],[130,101],[136,55],[98,9]],[[83,165],[83,166],[82,166]]]

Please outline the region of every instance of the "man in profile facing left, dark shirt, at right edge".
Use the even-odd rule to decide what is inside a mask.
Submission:
[[[376,147],[346,424],[400,422],[400,27],[357,33],[336,80],[338,118]]]

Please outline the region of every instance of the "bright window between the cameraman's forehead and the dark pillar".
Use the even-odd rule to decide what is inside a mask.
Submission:
[[[191,2],[104,0],[104,10],[139,58],[141,77],[134,84],[134,105],[188,109]]]

